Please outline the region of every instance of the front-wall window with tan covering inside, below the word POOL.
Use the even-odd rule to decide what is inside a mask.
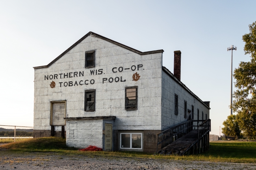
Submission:
[[[137,110],[137,87],[125,88],[125,110]]]

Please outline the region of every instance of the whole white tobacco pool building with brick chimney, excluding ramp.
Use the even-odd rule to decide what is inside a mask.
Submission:
[[[34,137],[155,152],[156,134],[210,118],[210,102],[180,81],[181,52],[174,51],[174,74],[162,58],[163,50],[141,52],[87,33],[48,65],[33,67]]]

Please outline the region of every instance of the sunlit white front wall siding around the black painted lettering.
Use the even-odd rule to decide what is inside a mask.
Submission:
[[[95,67],[85,68],[85,51],[95,50]],[[139,70],[118,71],[143,64]],[[35,70],[34,129],[50,130],[50,101],[66,100],[66,117],[117,116],[115,128],[120,130],[161,129],[161,64],[162,53],[139,55],[100,38],[88,36],[76,47],[48,68]],[[117,67],[112,72],[112,68]],[[103,69],[103,74],[91,75],[90,70]],[[61,73],[83,71],[84,76],[59,78]],[[133,81],[137,72],[140,79]],[[45,80],[45,76],[58,74],[58,79]],[[63,74],[62,74],[63,76]],[[102,83],[102,78],[119,77],[124,82]],[[95,80],[85,85],[84,81]],[[79,81],[83,80],[83,85]],[[56,87],[50,83],[55,81]],[[73,82],[73,86],[60,87],[59,82]],[[74,86],[74,82],[78,86]],[[125,110],[125,87],[138,87],[138,109]],[[84,91],[96,90],[95,112],[84,111]]]

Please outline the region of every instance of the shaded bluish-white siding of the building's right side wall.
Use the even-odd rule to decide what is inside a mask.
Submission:
[[[174,114],[174,95],[178,95],[178,115]],[[199,119],[202,120],[202,111],[210,118],[209,109],[197,98],[187,92],[180,84],[174,81],[167,73],[162,71],[162,119],[161,130],[178,125],[187,120],[184,118],[184,100],[187,101],[187,109],[192,110],[194,106],[194,120],[197,120],[197,109],[199,109]],[[195,101],[195,102],[194,102]],[[191,112],[192,115],[192,112]],[[196,125],[196,123],[194,123]]]

